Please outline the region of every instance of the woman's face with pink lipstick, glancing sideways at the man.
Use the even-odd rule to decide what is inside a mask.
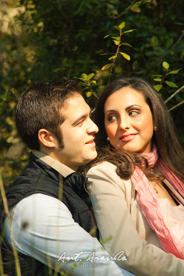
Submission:
[[[110,144],[132,152],[150,152],[153,118],[144,96],[123,87],[107,98],[104,106],[105,128]]]

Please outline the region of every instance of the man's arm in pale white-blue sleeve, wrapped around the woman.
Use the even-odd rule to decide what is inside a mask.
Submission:
[[[10,243],[14,240],[15,248],[23,254],[58,272],[70,271],[74,276],[134,275],[113,260],[102,260],[102,256],[105,259],[109,256],[107,251],[74,222],[66,205],[56,198],[34,194],[22,199],[10,211],[11,233],[6,219],[6,236]]]

